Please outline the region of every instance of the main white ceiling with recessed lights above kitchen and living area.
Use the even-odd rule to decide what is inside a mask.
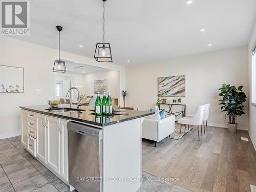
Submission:
[[[247,45],[256,16],[255,0],[105,4],[106,41],[114,63],[123,66]],[[102,41],[102,1],[31,1],[31,35],[14,38],[57,49],[56,25],[63,26],[63,51],[93,58],[96,42]]]

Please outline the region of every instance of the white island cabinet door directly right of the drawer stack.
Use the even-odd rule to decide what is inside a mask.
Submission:
[[[46,163],[47,128],[46,115],[36,114],[36,157]]]

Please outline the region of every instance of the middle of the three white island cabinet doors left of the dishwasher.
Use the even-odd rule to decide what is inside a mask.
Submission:
[[[47,116],[47,165],[59,174],[60,170],[60,143],[59,118]]]

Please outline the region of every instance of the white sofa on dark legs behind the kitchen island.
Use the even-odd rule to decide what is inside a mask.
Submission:
[[[166,116],[164,119],[159,114],[148,116],[142,123],[142,138],[159,142],[175,131],[174,115]]]

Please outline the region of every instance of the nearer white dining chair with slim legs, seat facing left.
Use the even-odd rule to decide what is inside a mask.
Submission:
[[[186,116],[186,117],[180,118],[178,120],[178,123],[181,124],[180,135],[181,135],[182,125],[185,125],[185,132],[186,132],[186,125],[195,125],[197,126],[198,140],[200,140],[199,126],[201,127],[201,135],[203,135],[202,124],[204,121],[204,113],[205,113],[205,105],[200,105],[197,107],[197,110],[193,116]]]

